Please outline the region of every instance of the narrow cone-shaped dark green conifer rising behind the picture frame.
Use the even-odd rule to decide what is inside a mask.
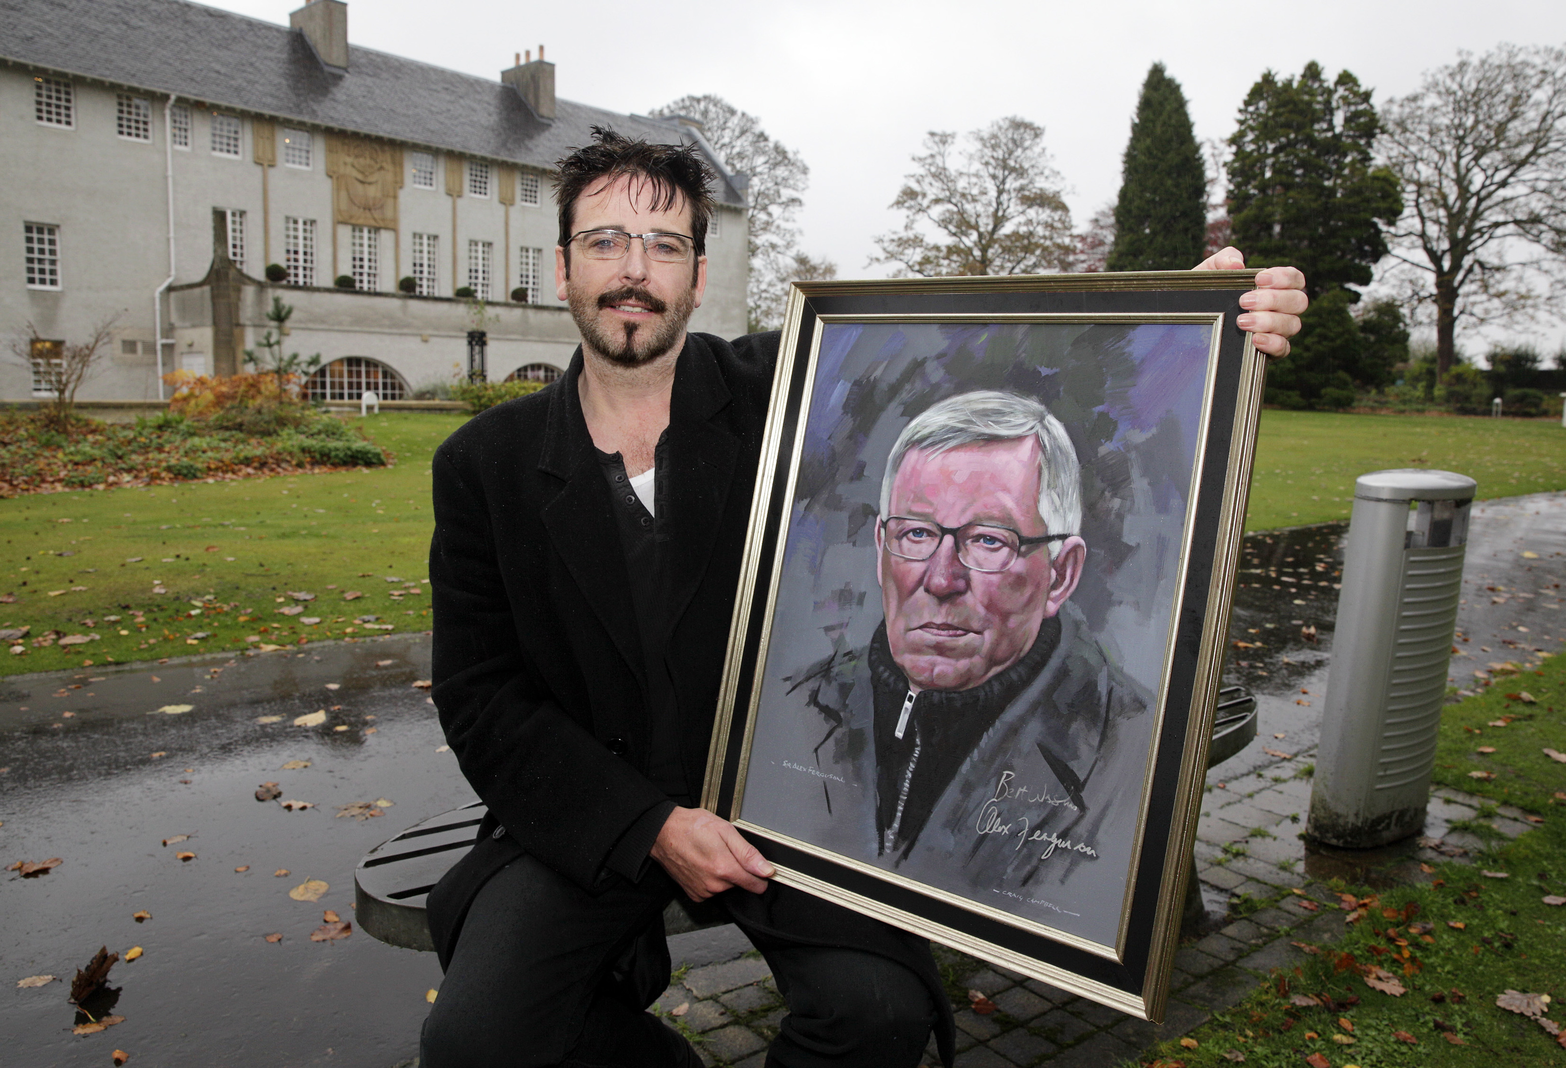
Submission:
[[[1204,255],[1206,230],[1207,172],[1185,94],[1164,64],[1154,63],[1126,144],[1109,269],[1193,268]]]

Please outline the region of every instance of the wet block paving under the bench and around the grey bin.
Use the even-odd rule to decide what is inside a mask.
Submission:
[[[955,954],[960,985],[988,996],[998,1010],[957,1013],[958,1068],[1110,1068],[1135,1062],[1157,1041],[1179,1037],[1243,1001],[1268,969],[1292,966],[1290,941],[1330,941],[1342,932],[1337,910],[1312,911],[1304,897],[1337,904],[1325,880],[1344,875],[1417,880],[1419,864],[1467,860],[1483,841],[1452,828],[1478,819],[1483,799],[1439,788],[1431,792],[1425,835],[1384,850],[1311,850],[1298,838],[1311,802],[1314,750],[1253,770],[1234,781],[1209,781],[1196,830],[1196,872],[1209,913],[1228,907],[1223,925],[1174,955],[1171,994],[1159,1026],[1076,998],[1049,983]],[[1524,813],[1502,805],[1488,816],[1508,838],[1528,830]],[[1301,894],[1294,891],[1300,889]],[[675,982],[655,1012],[681,1027],[702,1060],[723,1068],[761,1068],[783,1018],[783,999],[760,954],[730,929],[670,940]],[[940,1063],[933,1043],[927,1065]]]

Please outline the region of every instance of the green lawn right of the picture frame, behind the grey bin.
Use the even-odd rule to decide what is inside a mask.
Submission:
[[[1245,528],[1348,518],[1355,479],[1391,467],[1460,471],[1478,495],[1566,489],[1560,420],[1262,412]]]

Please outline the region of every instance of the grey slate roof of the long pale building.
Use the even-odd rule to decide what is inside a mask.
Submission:
[[[557,100],[547,122],[509,85],[354,44],[338,74],[302,33],[186,0],[0,0],[0,61],[542,169],[586,144],[592,125],[697,139],[672,122],[572,100]],[[717,197],[744,204],[736,185],[720,182]]]

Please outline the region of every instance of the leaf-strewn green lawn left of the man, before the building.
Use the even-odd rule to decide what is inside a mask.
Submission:
[[[25,653],[0,653],[0,672],[428,630],[429,459],[465,418],[366,418],[396,454],[387,468],[0,501],[0,592],[16,597],[0,626],[31,628]],[[423,592],[390,595],[409,586]],[[290,606],[304,612],[277,612]],[[363,615],[379,617],[374,628]],[[52,630],[96,640],[33,644]]]

